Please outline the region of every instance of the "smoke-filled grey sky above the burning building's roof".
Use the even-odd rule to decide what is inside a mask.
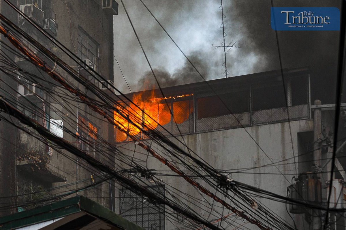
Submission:
[[[170,86],[202,81],[142,3],[139,0],[124,2],[149,61],[162,81],[160,84]],[[207,79],[225,77],[223,50],[211,46],[222,42],[219,0],[144,2]],[[274,6],[339,7],[339,2],[280,0],[274,1]],[[270,0],[224,0],[223,5],[225,43],[233,40],[241,46],[227,53],[229,76],[279,69],[275,31],[270,25]],[[283,67],[310,66],[313,94],[318,92],[321,95],[316,97],[328,100],[335,88],[339,32],[279,31],[278,35]],[[132,91],[145,88],[143,78],[154,82],[120,1],[119,13],[114,17],[114,54]],[[116,62],[114,75],[116,87],[129,92]]]

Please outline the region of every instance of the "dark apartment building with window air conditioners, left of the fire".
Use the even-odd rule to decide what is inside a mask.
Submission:
[[[82,72],[79,64],[97,71],[106,80],[113,81],[113,16],[118,13],[116,1],[12,0],[11,2],[42,29],[81,58],[83,62],[76,64],[52,41],[34,29],[26,19],[2,1],[1,12],[31,37],[75,68],[76,71],[81,71],[80,74],[94,84],[98,82],[88,76],[86,72]],[[1,39],[6,42],[6,38],[3,36]],[[23,39],[22,42],[26,43],[27,41]],[[40,55],[40,51],[30,46],[29,42],[27,44],[33,52]],[[37,120],[57,136],[76,144],[88,154],[99,159],[97,150],[100,139],[107,140],[109,137],[108,124],[97,119],[97,114],[94,114],[85,104],[78,103],[76,100],[69,101],[66,99],[66,101],[62,101],[61,98],[47,93],[51,90],[58,94],[61,86],[56,84],[53,79],[49,79],[48,75],[42,75],[40,70],[29,61],[12,53],[9,55],[21,69],[43,77],[42,85],[38,87],[38,85],[30,82],[30,78],[25,74],[18,73],[19,81],[13,81],[1,72],[0,77],[8,79],[9,85],[18,91],[18,94],[13,93],[17,94],[18,109]],[[52,61],[47,60],[47,63],[54,66]],[[58,67],[55,70],[61,71]],[[61,74],[66,80],[73,82],[64,71],[61,71]],[[77,86],[75,81],[74,84]],[[47,90],[42,90],[42,87],[46,87]],[[67,106],[71,108],[70,111],[66,110]],[[76,190],[94,183],[100,178],[97,176],[100,175],[100,172],[90,169],[86,162],[76,159],[72,154],[65,151],[63,154],[58,153],[49,146],[48,142],[42,143],[35,139],[30,135],[30,133],[35,133],[32,129],[24,127],[23,130],[20,130],[9,124],[4,124],[4,122],[1,122],[1,126],[0,183],[2,186],[0,197],[8,197],[2,198],[1,203],[16,204],[16,208],[12,208],[10,212],[9,210],[0,211],[0,215],[34,208],[34,205],[27,204],[35,202],[35,199]],[[91,145],[83,145],[67,133],[65,131],[67,129],[75,130],[78,135],[88,139]],[[39,163],[34,159],[39,159],[37,160]],[[112,162],[107,163],[113,166]],[[39,196],[33,197],[30,193],[37,193]],[[92,199],[96,202],[112,209],[111,185],[109,183],[81,191],[78,194],[93,197]],[[76,193],[70,196],[75,195]]]

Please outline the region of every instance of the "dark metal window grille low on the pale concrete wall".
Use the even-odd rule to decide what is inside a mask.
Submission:
[[[151,192],[164,197],[164,186],[147,187]],[[128,189],[120,189],[120,215],[146,230],[165,229],[165,206],[152,204]]]

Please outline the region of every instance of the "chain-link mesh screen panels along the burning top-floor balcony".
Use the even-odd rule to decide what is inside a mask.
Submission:
[[[166,100],[149,99],[139,103],[149,116],[138,109],[127,110],[137,113],[133,118],[139,126],[146,127],[147,130],[155,129],[167,137],[171,136],[170,133],[176,136],[180,133],[192,134],[310,117],[309,84],[306,76],[289,77],[285,80],[285,86],[281,82],[258,83],[229,91],[232,92],[223,90],[217,95],[213,92],[201,92],[194,96],[187,94],[188,96],[169,97]],[[115,120],[137,137],[148,139],[116,114]],[[163,128],[157,126],[156,122]],[[118,142],[130,141],[125,133],[117,129],[115,135]]]

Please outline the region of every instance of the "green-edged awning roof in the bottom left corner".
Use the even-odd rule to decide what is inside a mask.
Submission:
[[[76,196],[0,218],[0,229],[144,230],[101,204]]]

